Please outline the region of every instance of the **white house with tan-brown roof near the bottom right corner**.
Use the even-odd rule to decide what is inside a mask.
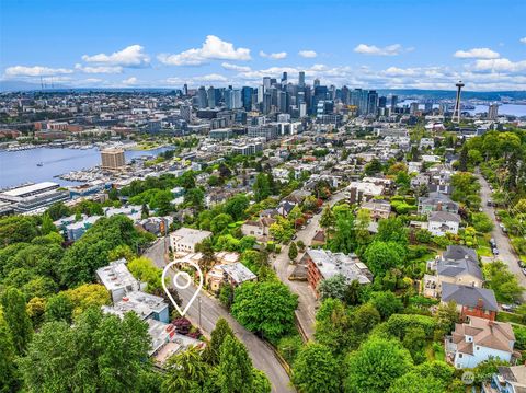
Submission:
[[[446,336],[446,359],[457,369],[471,369],[490,358],[511,362],[514,345],[510,323],[470,316],[468,323],[455,324],[455,331]]]

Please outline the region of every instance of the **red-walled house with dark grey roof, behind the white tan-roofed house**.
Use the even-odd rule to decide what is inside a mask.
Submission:
[[[455,301],[464,320],[468,316],[478,316],[494,321],[499,311],[495,293],[491,289],[443,282],[442,302],[450,301]]]

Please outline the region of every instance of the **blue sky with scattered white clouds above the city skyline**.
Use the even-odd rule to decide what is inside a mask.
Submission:
[[[526,90],[525,0],[1,0],[0,80]]]

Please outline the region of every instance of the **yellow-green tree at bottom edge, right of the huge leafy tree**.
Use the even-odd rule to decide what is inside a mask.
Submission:
[[[202,392],[209,378],[209,367],[203,361],[201,349],[191,347],[172,355],[165,363],[167,375],[161,392]]]

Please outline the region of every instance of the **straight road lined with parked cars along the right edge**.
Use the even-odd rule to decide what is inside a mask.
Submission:
[[[480,174],[477,174],[480,182],[480,197],[482,199],[482,210],[493,220],[495,228],[491,232],[491,236],[495,240],[496,248],[499,250],[498,259],[504,262],[510,271],[512,271],[515,277],[517,277],[518,282],[526,288],[526,277],[524,276],[521,267],[517,264],[518,257],[515,254],[515,251],[510,243],[510,238],[502,231],[499,227],[499,221],[496,220],[495,209],[491,206],[488,206],[488,199],[491,199],[491,189],[490,185]],[[523,294],[525,297],[526,292]]]

